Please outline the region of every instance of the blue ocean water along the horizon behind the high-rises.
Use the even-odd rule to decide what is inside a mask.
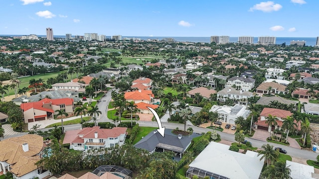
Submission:
[[[0,35],[0,36],[21,36],[21,35]],[[39,37],[46,37],[45,35],[38,35]],[[65,35],[54,35],[55,38],[65,38]],[[177,42],[205,42],[210,43],[210,37],[149,37],[149,36],[123,36],[129,38],[140,38],[141,40],[147,39],[163,39],[163,38],[173,38]],[[111,38],[111,36],[106,36],[106,38]],[[283,44],[286,42],[286,45],[290,45],[290,41],[292,40],[305,40],[307,46],[315,46],[317,42],[317,37],[277,37],[276,44]],[[230,42],[237,42],[238,37],[230,37]],[[258,37],[254,37],[254,43],[257,43]]]

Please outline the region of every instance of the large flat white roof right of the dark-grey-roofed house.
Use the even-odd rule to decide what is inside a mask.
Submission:
[[[189,164],[229,179],[258,179],[263,169],[264,160],[257,157],[257,152],[246,154],[228,150],[229,146],[210,142],[208,146]]]

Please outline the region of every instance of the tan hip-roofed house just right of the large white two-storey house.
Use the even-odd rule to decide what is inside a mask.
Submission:
[[[271,87],[271,89],[270,89]],[[262,94],[266,94],[268,92],[274,93],[274,94],[279,94],[279,93],[286,93],[286,86],[280,85],[275,82],[269,82],[269,83],[262,83],[256,88],[256,92]]]

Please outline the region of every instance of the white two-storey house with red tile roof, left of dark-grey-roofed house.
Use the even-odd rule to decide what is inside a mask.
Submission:
[[[122,146],[127,135],[127,127],[100,129],[100,126],[66,131],[63,144],[70,144],[70,149],[90,150]]]

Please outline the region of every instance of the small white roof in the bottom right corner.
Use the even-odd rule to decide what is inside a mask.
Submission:
[[[292,179],[315,179],[312,178],[312,173],[315,173],[313,166],[286,161],[286,167],[287,166],[291,170],[290,177],[292,177]]]

